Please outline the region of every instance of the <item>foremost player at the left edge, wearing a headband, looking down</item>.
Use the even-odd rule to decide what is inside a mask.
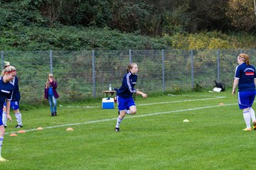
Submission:
[[[12,94],[14,91],[14,84],[9,83],[10,81],[14,80],[16,77],[16,69],[12,66],[6,67],[3,70],[4,76],[0,77],[0,162],[7,162],[8,160],[1,157],[1,147],[4,141],[4,124],[2,121],[2,114],[3,114],[3,106],[4,102],[6,102],[6,111],[7,111],[7,118],[11,120],[11,116],[9,114],[10,111],[10,101],[12,98]]]

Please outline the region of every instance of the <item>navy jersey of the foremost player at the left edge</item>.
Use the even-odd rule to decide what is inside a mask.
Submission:
[[[11,101],[14,91],[14,84],[4,83],[3,77],[0,77],[0,110],[3,110],[6,98]]]

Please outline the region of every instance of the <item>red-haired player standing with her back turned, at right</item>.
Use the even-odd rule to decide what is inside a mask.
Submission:
[[[256,73],[255,67],[250,65],[249,56],[244,53],[238,55],[238,66],[235,68],[235,79],[232,94],[235,95],[238,86],[238,105],[242,109],[245,119],[245,131],[251,131],[250,121],[252,120],[253,129],[256,130],[255,111],[252,103],[255,99]]]

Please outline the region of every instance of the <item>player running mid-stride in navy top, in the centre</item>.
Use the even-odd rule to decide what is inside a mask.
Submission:
[[[117,90],[119,116],[117,117],[117,125],[114,128],[115,132],[119,132],[119,125],[124,119],[125,114],[135,114],[137,112],[132,94],[140,94],[144,98],[147,97],[147,94],[134,89],[137,81],[137,72],[138,66],[136,63],[132,62],[128,64],[127,74],[124,75],[122,86]]]

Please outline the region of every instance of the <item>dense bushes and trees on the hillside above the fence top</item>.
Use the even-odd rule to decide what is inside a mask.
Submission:
[[[0,1],[5,51],[250,49],[255,30],[246,0]]]

